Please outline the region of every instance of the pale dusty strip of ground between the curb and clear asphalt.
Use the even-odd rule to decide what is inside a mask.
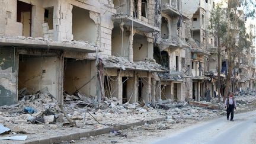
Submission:
[[[247,108],[237,108],[235,114],[244,113],[247,111],[256,110],[256,101],[247,104]],[[216,116],[217,117],[225,117]],[[235,117],[235,116],[234,116]],[[150,142],[151,139],[158,139],[159,137],[164,137],[170,133],[174,133],[177,130],[183,129],[184,127],[192,126],[193,124],[204,123],[205,121],[212,120],[213,118],[206,117],[202,120],[192,120],[187,119],[181,121],[180,123],[169,124],[168,121],[162,121],[155,124],[145,124],[144,126],[135,126],[127,130],[121,130],[123,135],[126,136],[115,136],[116,133],[108,133],[100,136],[94,137],[84,137],[81,140],[75,140],[75,143],[145,143],[145,141]],[[235,118],[234,118],[235,119]],[[146,140],[147,139],[147,140]],[[63,142],[69,143],[69,142]]]

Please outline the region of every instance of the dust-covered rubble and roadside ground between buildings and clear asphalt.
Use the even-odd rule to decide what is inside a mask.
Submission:
[[[68,95],[65,97],[68,97]],[[236,97],[238,107],[235,112],[255,110],[255,99],[256,97],[252,95]],[[199,106],[194,105],[194,103],[199,104]],[[35,95],[25,96],[18,104],[1,107],[0,122],[11,129],[11,132],[1,134],[0,137],[27,135],[28,138],[25,140],[27,142],[102,129],[114,124],[129,124],[161,117],[167,118],[165,121],[155,124],[145,124],[144,126],[135,126],[128,130],[103,136],[84,138],[87,142],[97,140],[96,143],[108,143],[116,139],[117,142],[129,143],[133,142],[132,140],[140,139],[142,135],[143,139],[145,139],[145,136],[159,136],[165,130],[171,132],[204,119],[212,119],[226,114],[223,104],[217,103],[217,99],[211,102],[194,103],[165,100],[148,104],[119,104],[116,98],[98,103],[89,98],[82,98],[82,95],[78,94],[76,96],[71,95],[71,98],[68,98],[63,105],[68,120],[47,89],[42,89]],[[32,112],[34,113],[30,109],[25,112],[24,108],[26,107],[33,108],[34,111]],[[72,124],[71,121],[75,124]],[[11,140],[1,141],[13,143]],[[82,142],[83,140],[81,140]],[[24,143],[24,141],[15,141],[15,143]]]

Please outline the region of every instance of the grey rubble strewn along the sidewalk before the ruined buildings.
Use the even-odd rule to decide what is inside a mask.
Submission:
[[[79,91],[72,95],[63,92],[63,95],[65,97],[63,107],[49,94],[47,88],[34,95],[20,94],[18,104],[2,106],[1,137],[25,134],[29,139],[30,135],[41,133],[43,136],[43,133],[50,130],[95,130],[159,117],[167,119],[155,124],[146,124],[145,129],[165,130],[170,129],[170,124],[210,119],[226,113],[223,104],[217,103],[217,98],[211,102],[162,100],[148,104],[120,104],[115,97],[98,102]],[[253,110],[248,106],[253,105],[255,100],[254,95],[236,96],[237,111]],[[251,108],[255,110],[255,105]],[[4,133],[9,135],[3,135]],[[118,131],[113,133],[115,136],[126,137],[126,134]]]

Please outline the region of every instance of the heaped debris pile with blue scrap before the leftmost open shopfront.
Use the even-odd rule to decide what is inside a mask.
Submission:
[[[26,88],[19,91],[19,100],[15,105],[4,105],[1,108],[8,110],[4,119],[12,123],[56,123],[63,122],[62,110],[55,97],[45,87],[36,94],[28,94]],[[6,119],[9,117],[9,119]]]

